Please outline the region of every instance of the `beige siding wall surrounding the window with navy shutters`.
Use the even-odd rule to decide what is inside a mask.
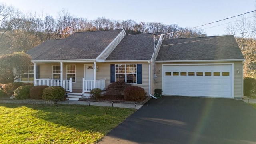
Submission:
[[[142,64],[142,84],[133,84],[134,86],[140,86],[149,93],[149,75],[148,75],[148,62],[122,62],[122,63],[96,63],[99,67],[96,72],[96,79],[106,78],[106,86],[110,84],[110,64]]]

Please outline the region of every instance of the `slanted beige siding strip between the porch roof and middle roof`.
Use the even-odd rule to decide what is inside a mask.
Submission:
[[[116,40],[113,41],[113,43],[102,53],[102,55],[98,58],[99,60],[106,60],[110,53],[116,48],[116,46],[122,41],[122,39],[125,36],[124,30],[118,35]]]

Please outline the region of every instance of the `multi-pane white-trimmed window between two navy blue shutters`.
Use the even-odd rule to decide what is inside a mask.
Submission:
[[[116,81],[137,84],[137,64],[115,64]]]

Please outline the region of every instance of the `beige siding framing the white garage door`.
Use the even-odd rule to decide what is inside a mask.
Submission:
[[[162,89],[162,64],[202,64],[209,62],[195,62],[195,63],[156,63],[156,70],[160,70],[160,73],[156,72],[157,83],[156,88]],[[221,63],[221,62],[210,62],[210,63]],[[243,97],[243,62],[222,62],[222,63],[233,63],[234,64],[234,98],[241,99]],[[239,74],[237,73],[239,69]]]

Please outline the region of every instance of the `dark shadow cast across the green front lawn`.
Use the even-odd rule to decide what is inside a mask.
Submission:
[[[34,117],[80,131],[108,132],[134,112],[124,108],[77,105],[26,105],[38,112]],[[124,114],[122,114],[124,113]],[[129,113],[129,114],[127,114]],[[121,114],[121,116],[120,116]],[[126,115],[127,114],[127,115]],[[109,129],[111,128],[111,129]]]

